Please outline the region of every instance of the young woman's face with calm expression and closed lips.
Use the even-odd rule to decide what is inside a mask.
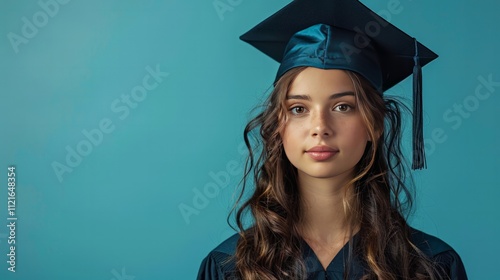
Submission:
[[[352,177],[368,141],[354,86],[343,70],[308,67],[286,95],[285,153],[306,177]]]

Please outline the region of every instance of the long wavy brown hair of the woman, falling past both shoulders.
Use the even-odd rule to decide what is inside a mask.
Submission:
[[[241,279],[307,277],[298,228],[302,210],[297,170],[286,157],[280,137],[286,121],[286,94],[303,69],[285,73],[263,110],[245,127],[249,156],[241,193],[232,211],[240,232],[235,260]],[[354,252],[361,256],[366,266],[363,279],[436,279],[432,262],[411,242],[405,218],[411,212],[414,192],[405,182],[409,173],[401,151],[404,105],[382,97],[363,77],[346,72],[372,140],[347,185],[353,192],[346,193],[354,193],[354,197],[344,198],[351,234],[354,228],[359,229],[358,251],[349,242],[349,259]],[[244,200],[249,185],[254,189]],[[252,218],[248,226],[247,214]],[[349,279],[347,267],[344,279]]]

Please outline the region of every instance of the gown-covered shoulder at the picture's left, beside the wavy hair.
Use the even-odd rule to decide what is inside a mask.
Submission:
[[[234,254],[239,234],[236,233],[210,251],[201,262],[198,280],[232,279],[236,271]]]

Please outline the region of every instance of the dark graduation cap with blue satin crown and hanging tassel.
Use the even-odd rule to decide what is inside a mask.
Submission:
[[[357,0],[295,0],[240,37],[288,70],[344,69],[380,93],[413,74],[413,169],[426,166],[421,67],[437,55]]]

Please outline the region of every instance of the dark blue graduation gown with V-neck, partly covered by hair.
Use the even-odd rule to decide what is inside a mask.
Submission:
[[[236,244],[239,235],[235,234],[222,242],[217,248],[212,250],[202,261],[198,272],[198,280],[237,280],[235,276],[235,264],[231,258],[236,251]],[[356,243],[357,236],[354,236]],[[418,246],[437,265],[441,266],[446,275],[441,275],[442,279],[466,280],[467,274],[460,259],[460,256],[448,244],[442,240],[425,234],[418,230],[413,230],[413,243]],[[335,279],[343,280],[344,267],[347,262],[348,244],[346,244],[335,256],[326,270],[314,254],[314,251],[303,242],[303,258],[307,268],[308,280]],[[229,261],[228,261],[229,260]],[[356,256],[351,263],[350,279],[360,279],[364,275],[364,268]]]

